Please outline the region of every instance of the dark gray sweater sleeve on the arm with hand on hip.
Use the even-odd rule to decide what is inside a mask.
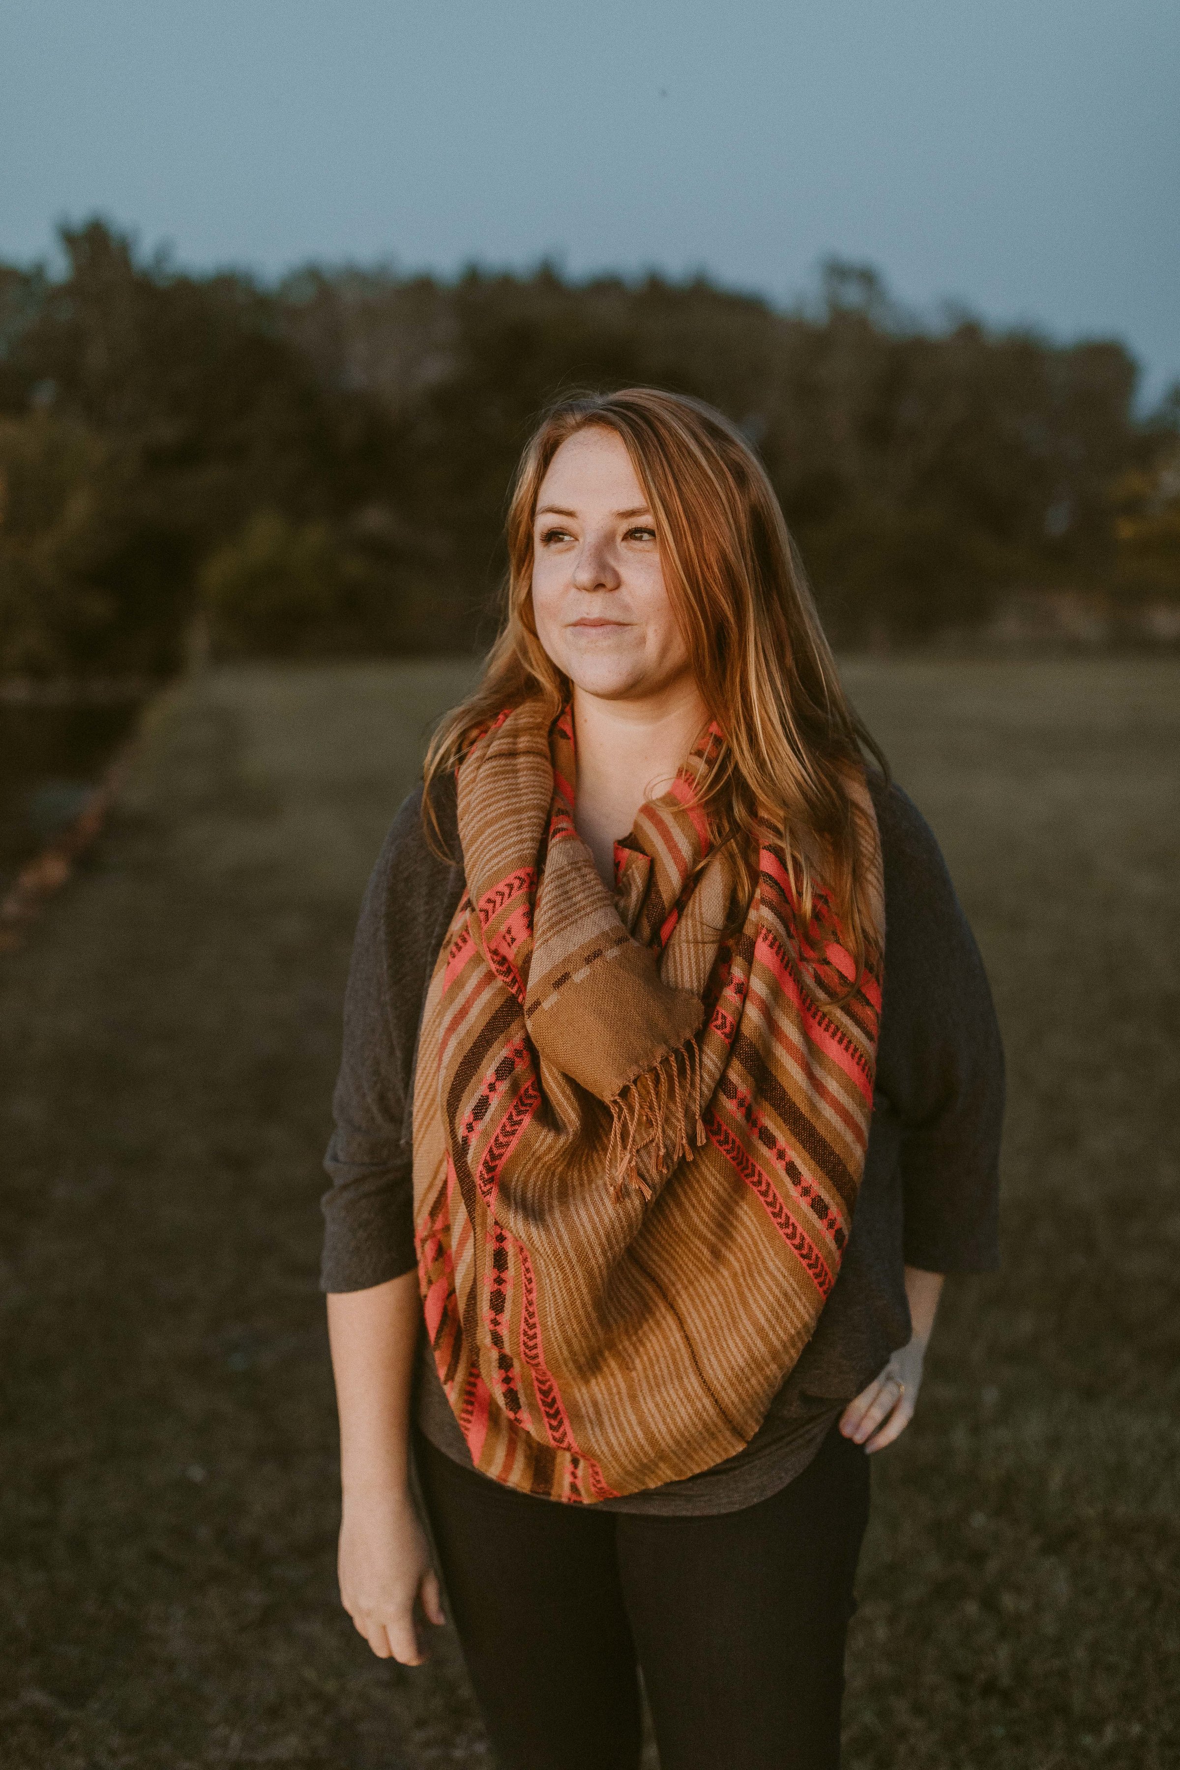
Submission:
[[[885,1009],[877,1090],[897,1113],[908,1266],[1000,1264],[1003,1050],[984,961],[934,834],[895,786],[885,850]]]

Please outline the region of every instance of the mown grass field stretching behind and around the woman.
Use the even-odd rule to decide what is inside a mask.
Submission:
[[[1180,666],[853,664],[977,927],[1005,1267],[876,1464],[849,1770],[1180,1763]],[[456,666],[149,713],[0,961],[5,1770],[488,1765],[334,1593],[318,1161],[352,922]],[[718,1766],[731,1770],[731,1766]],[[739,1770],[739,1766],[732,1766]]]

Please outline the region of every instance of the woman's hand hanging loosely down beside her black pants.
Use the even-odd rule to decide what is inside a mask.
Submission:
[[[414,1605],[430,1623],[442,1623],[439,1575],[409,1492],[345,1494],[340,1526],[340,1600],[357,1634],[379,1658],[421,1666]]]

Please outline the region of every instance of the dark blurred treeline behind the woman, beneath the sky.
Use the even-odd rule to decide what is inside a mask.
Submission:
[[[508,480],[570,388],[655,382],[757,444],[837,641],[1014,591],[1180,604],[1180,393],[1116,342],[904,322],[833,264],[814,312],[697,280],[188,276],[92,221],[0,266],[0,673],[487,643]]]

